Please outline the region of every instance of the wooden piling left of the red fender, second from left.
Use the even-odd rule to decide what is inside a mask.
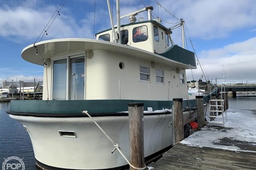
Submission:
[[[173,98],[173,134],[174,144],[184,138],[182,98]]]

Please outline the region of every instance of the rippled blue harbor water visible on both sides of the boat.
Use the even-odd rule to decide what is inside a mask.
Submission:
[[[230,109],[256,110],[255,95],[237,95],[228,98]],[[22,159],[26,170],[35,169],[35,158],[28,132],[23,125],[9,117],[6,111],[10,103],[0,103],[0,167],[10,156]],[[13,167],[15,168],[15,167]]]

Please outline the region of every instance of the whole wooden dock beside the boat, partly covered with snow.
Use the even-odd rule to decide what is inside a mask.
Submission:
[[[206,125],[149,166],[152,169],[256,169],[256,112],[227,110],[225,125]]]

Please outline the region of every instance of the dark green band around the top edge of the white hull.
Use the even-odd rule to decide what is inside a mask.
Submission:
[[[144,103],[144,110],[152,107],[153,110],[171,109],[173,101],[147,100],[13,100],[10,103],[10,112],[20,113],[52,113],[52,114],[82,114],[83,110],[89,113],[117,113],[128,111],[129,103]],[[183,108],[195,107],[195,100],[184,100]]]

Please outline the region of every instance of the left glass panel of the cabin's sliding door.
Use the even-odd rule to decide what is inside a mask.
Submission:
[[[53,100],[67,98],[67,59],[53,61]]]

